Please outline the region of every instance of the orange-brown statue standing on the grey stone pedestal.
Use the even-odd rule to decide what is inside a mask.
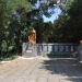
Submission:
[[[32,28],[31,32],[30,32],[28,43],[31,45],[35,45],[36,44],[36,31],[34,28]]]

